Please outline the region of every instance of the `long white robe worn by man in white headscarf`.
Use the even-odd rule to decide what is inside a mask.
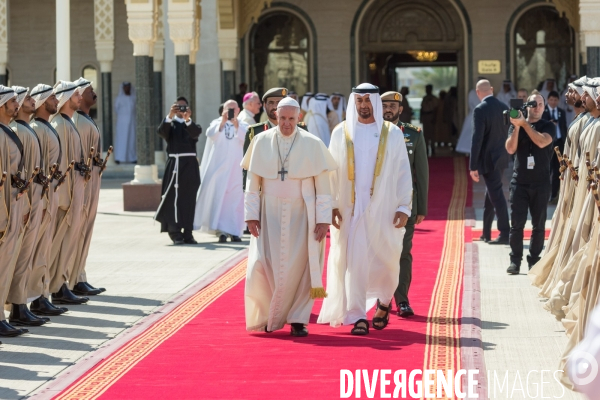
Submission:
[[[338,164],[331,174],[333,208],[342,214],[340,229],[331,228],[327,293],[319,323],[353,324],[366,318],[379,299],[388,304],[398,286],[404,228],[394,227],[396,211],[411,214],[412,176],[404,135],[389,124],[381,174],[370,196],[377,158],[377,125],[357,124],[354,138],[355,204],[348,179],[344,124],[331,136],[329,151]],[[354,208],[354,214],[353,214]]]

